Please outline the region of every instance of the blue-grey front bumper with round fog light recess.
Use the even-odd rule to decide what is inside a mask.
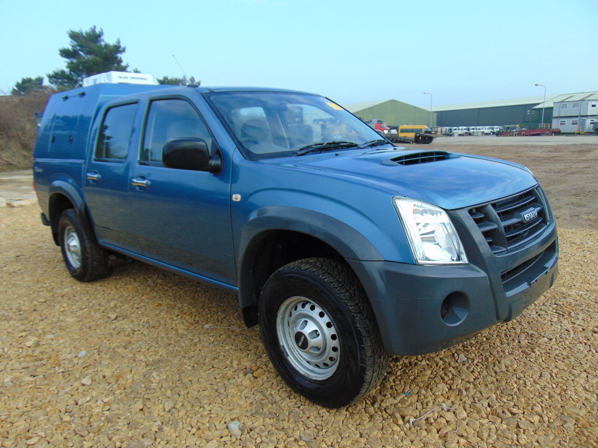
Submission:
[[[468,265],[347,260],[370,298],[391,354],[422,355],[463,342],[517,317],[556,280],[559,241],[551,213],[540,237],[501,256],[480,241],[466,211],[452,213],[451,219]],[[446,306],[456,307],[456,312],[449,309],[443,318]]]

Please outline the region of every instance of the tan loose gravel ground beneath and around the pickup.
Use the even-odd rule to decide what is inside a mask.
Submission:
[[[560,229],[560,277],[523,315],[394,358],[327,410],[284,385],[257,329],[218,328],[243,327],[236,297],[139,262],[78,283],[38,207],[0,208],[0,444],[596,447],[596,241]]]

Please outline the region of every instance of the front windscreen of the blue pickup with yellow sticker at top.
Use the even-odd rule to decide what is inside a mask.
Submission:
[[[215,92],[209,101],[252,158],[293,155],[325,142],[356,145],[380,134],[330,100],[285,92]]]

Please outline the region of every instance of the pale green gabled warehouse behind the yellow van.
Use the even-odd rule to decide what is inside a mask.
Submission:
[[[436,113],[397,100],[368,101],[343,105],[347,111],[369,121],[382,119],[390,127],[402,124],[436,125]]]

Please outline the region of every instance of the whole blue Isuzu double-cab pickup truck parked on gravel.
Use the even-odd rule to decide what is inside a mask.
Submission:
[[[72,277],[127,256],[238,294],[279,375],[322,406],[367,394],[390,354],[512,320],[557,275],[531,171],[397,147],[318,94],[76,88],[48,102],[34,159]]]

